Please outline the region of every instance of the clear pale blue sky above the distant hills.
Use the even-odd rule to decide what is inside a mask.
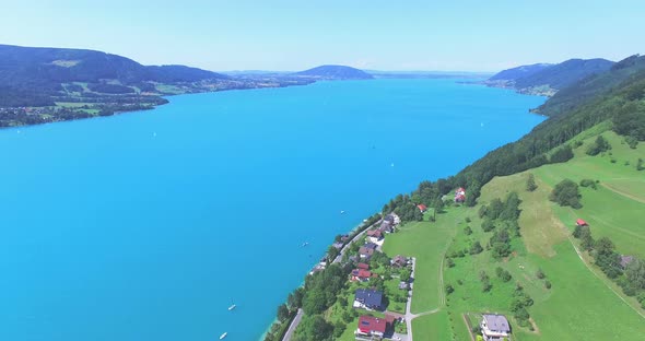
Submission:
[[[645,50],[645,1],[176,0],[0,4],[0,44],[209,70],[497,71]],[[9,3],[7,3],[9,2]]]

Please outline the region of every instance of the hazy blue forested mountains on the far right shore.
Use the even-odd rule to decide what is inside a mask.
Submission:
[[[614,64],[607,59],[570,59],[558,64],[537,63],[504,70],[485,83],[520,93],[552,96],[585,78],[602,73]]]

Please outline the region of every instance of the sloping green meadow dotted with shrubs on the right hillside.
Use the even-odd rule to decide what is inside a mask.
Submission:
[[[385,250],[418,258],[418,275],[412,308],[414,313],[438,307],[438,313],[413,320],[415,340],[468,340],[461,318],[465,313],[505,314],[514,327],[516,340],[641,340],[645,334],[645,311],[634,298],[593,264],[593,259],[577,254],[577,240],[571,237],[575,219],[589,222],[594,236],[609,236],[625,255],[645,256],[645,170],[636,170],[637,160],[645,158],[645,145],[632,150],[621,138],[605,131],[613,146],[611,154],[588,156],[585,150],[596,139],[591,130],[579,137],[584,144],[565,164],[546,165],[506,177],[497,177],[482,189],[474,208],[448,208],[436,223],[423,222],[404,226],[388,236]],[[612,162],[614,160],[614,162]],[[528,173],[536,176],[538,189],[526,191]],[[580,188],[583,209],[561,208],[548,200],[552,187],[564,178],[579,181],[599,180],[597,189]],[[442,307],[437,283],[441,283],[441,255],[468,250],[479,240],[488,244],[492,233],[484,233],[478,210],[493,198],[516,191],[523,203],[519,217],[521,237],[513,240],[513,255],[495,260],[490,251],[454,258],[455,267],[444,267],[443,281],[454,286]],[[467,222],[467,219],[469,222]],[[465,232],[470,226],[471,234]],[[507,270],[513,279],[504,283],[495,268]],[[547,279],[539,280],[538,269]],[[482,291],[479,272],[485,271],[492,290]],[[546,281],[552,287],[547,289]],[[521,328],[512,317],[509,305],[516,283],[535,304],[528,308],[535,330]],[[418,286],[417,286],[418,285]],[[447,325],[446,325],[447,324]]]

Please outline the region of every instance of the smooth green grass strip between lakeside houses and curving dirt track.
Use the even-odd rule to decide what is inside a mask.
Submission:
[[[464,220],[464,213],[465,210],[452,208],[448,213],[437,214],[442,219],[436,223],[408,223],[400,232],[386,237],[383,248],[389,257],[403,255],[417,258],[412,313],[423,313],[439,306],[443,255],[456,226]]]

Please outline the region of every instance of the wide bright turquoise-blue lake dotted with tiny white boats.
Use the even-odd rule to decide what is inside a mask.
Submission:
[[[544,101],[455,80],[169,99],[0,130],[0,340],[257,340],[335,235]]]

